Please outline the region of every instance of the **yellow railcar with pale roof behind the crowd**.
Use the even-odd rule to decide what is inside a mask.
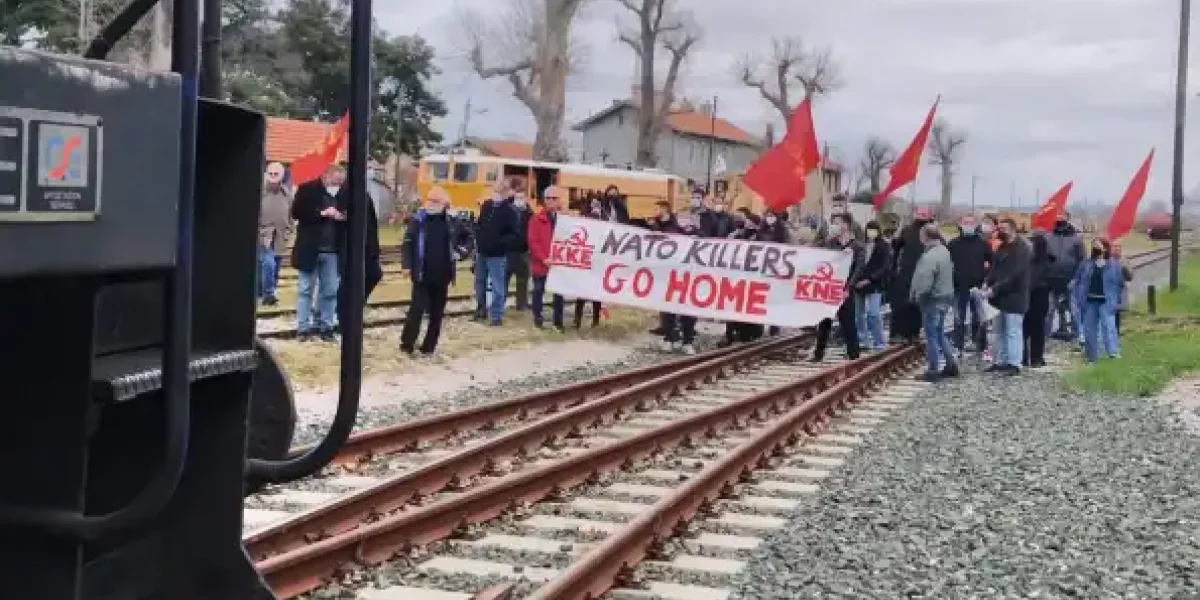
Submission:
[[[422,158],[416,188],[424,198],[431,187],[442,186],[450,194],[452,208],[475,211],[502,176],[522,180],[530,198],[558,185],[566,190],[571,210],[578,210],[588,192],[602,192],[614,185],[625,197],[629,216],[634,220],[654,216],[658,202],[676,205],[690,197],[686,180],[666,173],[466,155]]]

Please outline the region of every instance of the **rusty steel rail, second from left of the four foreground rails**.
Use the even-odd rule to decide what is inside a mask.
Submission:
[[[380,515],[389,515],[446,488],[462,488],[470,478],[499,470],[500,462],[506,458],[524,460],[548,443],[578,436],[588,427],[619,419],[630,410],[648,410],[653,403],[665,402],[688,386],[715,382],[730,372],[796,348],[811,335],[802,332],[743,346],[728,354],[586,401],[252,532],[242,542],[256,560],[302,550],[313,540],[356,529]]]

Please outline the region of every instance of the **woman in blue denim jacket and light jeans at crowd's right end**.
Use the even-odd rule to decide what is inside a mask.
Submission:
[[[1121,260],[1112,258],[1109,240],[1093,240],[1091,257],[1079,264],[1072,280],[1075,302],[1082,313],[1084,354],[1088,362],[1100,359],[1102,344],[1109,358],[1121,358],[1116,312],[1123,287],[1124,271]]]

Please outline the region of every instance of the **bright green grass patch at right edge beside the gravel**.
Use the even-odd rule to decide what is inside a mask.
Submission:
[[[1121,332],[1121,359],[1102,359],[1067,376],[1078,389],[1153,396],[1200,368],[1200,258],[1180,265],[1180,288],[1158,295],[1158,314],[1135,302]]]

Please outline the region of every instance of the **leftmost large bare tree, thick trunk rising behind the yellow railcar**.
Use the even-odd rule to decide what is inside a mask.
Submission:
[[[566,160],[566,76],[582,60],[581,48],[571,42],[571,25],[583,2],[510,0],[497,22],[485,23],[478,13],[461,16],[472,68],[484,79],[506,79],[512,96],[533,114],[535,160]]]

